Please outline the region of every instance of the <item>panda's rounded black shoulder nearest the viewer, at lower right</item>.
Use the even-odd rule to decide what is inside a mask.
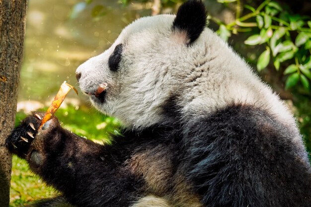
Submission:
[[[311,204],[301,137],[266,111],[234,105],[197,120],[185,137],[185,174],[209,207]]]

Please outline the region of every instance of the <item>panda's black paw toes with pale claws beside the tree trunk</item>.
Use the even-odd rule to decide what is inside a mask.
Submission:
[[[20,125],[6,138],[6,146],[12,153],[22,158],[26,156],[32,141],[38,133],[43,115],[42,112],[33,112],[21,121]]]

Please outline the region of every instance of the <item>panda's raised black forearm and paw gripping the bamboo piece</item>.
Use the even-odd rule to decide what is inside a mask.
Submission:
[[[34,138],[27,134],[30,123],[36,129],[31,132]],[[140,182],[124,168],[124,157],[116,155],[117,148],[79,137],[63,129],[55,117],[42,130],[38,131],[38,126],[33,115],[28,117],[7,138],[7,145],[70,203],[78,207],[130,206],[138,197]],[[28,142],[18,140],[17,135]],[[126,156],[127,152],[120,154]]]

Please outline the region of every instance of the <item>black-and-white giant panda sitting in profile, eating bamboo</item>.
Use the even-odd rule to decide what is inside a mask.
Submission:
[[[293,115],[206,27],[201,0],[134,21],[76,74],[122,135],[94,143],[56,117],[38,130],[34,112],[6,140],[76,207],[310,207]]]

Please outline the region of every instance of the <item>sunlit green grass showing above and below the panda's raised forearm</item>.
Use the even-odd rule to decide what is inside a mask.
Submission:
[[[46,108],[40,111],[45,111]],[[27,115],[16,114],[16,126]],[[69,105],[60,108],[56,116],[63,122],[63,127],[94,141],[109,142],[109,134],[118,133],[120,123],[117,119],[99,114],[87,107],[75,108]],[[55,197],[57,192],[29,170],[26,161],[13,156],[10,189],[10,207],[20,207],[44,198]]]

